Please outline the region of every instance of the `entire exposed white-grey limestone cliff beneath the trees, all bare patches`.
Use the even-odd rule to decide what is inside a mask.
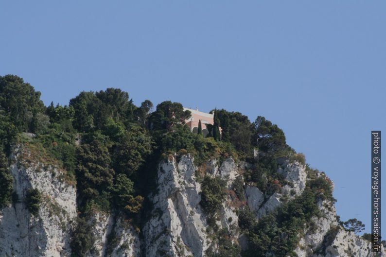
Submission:
[[[10,156],[14,189],[18,196],[12,206],[0,211],[1,257],[69,257],[71,230],[75,226],[76,186],[66,182],[65,171],[44,164],[18,145]],[[248,238],[238,224],[240,208],[247,206],[256,221],[284,201],[301,195],[307,183],[304,165],[281,162],[277,172],[286,182],[280,192],[263,193],[246,183],[243,174],[250,164],[228,157],[220,163],[209,159],[196,167],[190,154],[169,155],[158,164],[157,188],[149,195],[150,217],[134,229],[124,216],[96,211],[88,221],[94,236],[89,257],[204,257],[216,253],[217,239],[208,230],[208,216],[200,205],[201,179],[207,174],[226,181],[227,195],[218,212],[216,225],[229,231],[229,242],[245,250]],[[318,174],[320,175],[320,174]],[[241,181],[244,200],[235,196],[234,185]],[[37,188],[42,203],[37,216],[25,205],[26,192]],[[321,216],[305,226],[296,249],[298,257],[370,257],[370,242],[339,226],[335,207],[328,200],[318,202]],[[111,237],[114,237],[112,243]],[[267,256],[270,254],[267,253]],[[383,251],[381,256],[386,256]]]

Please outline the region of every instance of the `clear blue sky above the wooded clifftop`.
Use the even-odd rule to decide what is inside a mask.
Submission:
[[[46,104],[119,87],[137,105],[265,116],[333,179],[342,220],[369,232],[370,131],[386,126],[385,10],[381,0],[3,0],[0,75],[23,77]]]

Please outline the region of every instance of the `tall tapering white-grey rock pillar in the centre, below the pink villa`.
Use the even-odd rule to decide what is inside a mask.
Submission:
[[[201,257],[208,248],[206,217],[198,203],[200,184],[190,155],[179,163],[170,156],[158,167],[158,194],[154,211],[143,228],[146,257]]]

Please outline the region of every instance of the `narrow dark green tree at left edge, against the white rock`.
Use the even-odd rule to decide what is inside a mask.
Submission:
[[[14,179],[8,172],[8,161],[0,147],[0,209],[12,201]]]

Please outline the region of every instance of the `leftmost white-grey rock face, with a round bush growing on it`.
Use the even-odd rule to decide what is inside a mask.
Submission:
[[[35,159],[28,165],[28,149],[16,147],[11,156],[11,173],[18,203],[0,212],[0,256],[70,256],[70,228],[76,217],[76,190],[59,179],[58,169]],[[39,215],[34,217],[24,204],[27,190],[42,194]]]

